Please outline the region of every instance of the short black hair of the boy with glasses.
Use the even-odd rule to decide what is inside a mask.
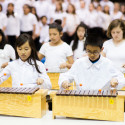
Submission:
[[[88,34],[84,44],[85,50],[87,45],[97,46],[101,49],[103,47],[103,39],[98,34]]]

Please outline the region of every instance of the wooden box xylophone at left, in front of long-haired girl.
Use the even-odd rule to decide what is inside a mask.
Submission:
[[[41,118],[46,113],[48,90],[34,88],[0,88],[0,114]]]

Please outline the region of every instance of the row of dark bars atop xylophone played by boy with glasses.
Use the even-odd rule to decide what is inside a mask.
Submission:
[[[116,90],[59,90],[57,96],[95,96],[95,97],[116,97]]]

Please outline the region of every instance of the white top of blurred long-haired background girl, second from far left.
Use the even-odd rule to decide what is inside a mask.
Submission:
[[[17,15],[10,15],[7,17],[7,27],[5,30],[6,35],[19,36],[20,35],[20,19]]]

